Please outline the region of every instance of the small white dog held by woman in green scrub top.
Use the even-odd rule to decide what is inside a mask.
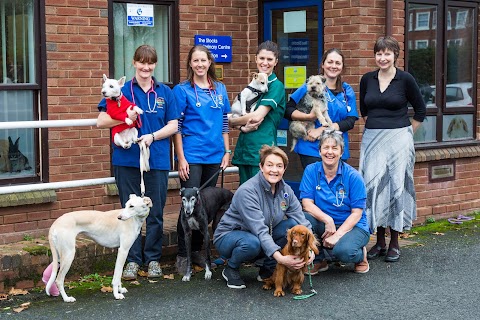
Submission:
[[[268,75],[266,73],[252,73],[252,81],[242,90],[233,101],[232,118],[237,118],[253,112],[262,93],[268,92]]]

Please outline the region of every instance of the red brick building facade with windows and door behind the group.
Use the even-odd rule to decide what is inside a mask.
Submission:
[[[397,65],[415,77],[427,103],[427,119],[415,135],[416,223],[479,210],[479,2],[1,0],[0,244],[46,235],[68,211],[120,207],[112,185],[7,190],[111,177],[109,130],[5,129],[2,123],[95,119],[102,74],[131,78],[133,51],[143,43],[157,49],[156,78],[173,86],[186,77],[195,41],[208,41],[233,101],[256,71],[254,55],[264,40],[281,48],[276,73],[288,97],[318,72],[322,52],[332,47],[343,51],[343,79],[358,93],[361,76],[375,69],[375,40],[393,35],[402,46]],[[354,166],[362,131],[360,119],[350,135]],[[232,146],[237,137],[232,130]],[[278,137],[289,150],[285,124]],[[295,184],[302,169],[290,155],[286,178]],[[178,186],[171,178],[166,215],[179,211]],[[235,190],[237,175],[226,175],[224,186]]]

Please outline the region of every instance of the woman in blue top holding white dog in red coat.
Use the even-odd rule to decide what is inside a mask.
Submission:
[[[127,81],[122,88],[125,97],[143,110],[138,139],[145,141],[150,149],[150,171],[143,175],[145,195],[153,204],[147,218],[145,246],[142,251],[142,237],[139,235],[128,253],[128,263],[122,274],[124,280],[135,280],[139,267],[143,264],[148,265],[149,278],[162,276],[159,261],[162,256],[163,208],[167,199],[168,172],[171,165],[169,137],[177,131],[180,112],[170,88],[152,76],[156,66],[155,48],[149,45],[138,47],[133,55],[135,77]],[[98,109],[100,114],[97,127],[111,128],[122,123],[107,114],[105,99],[100,101]],[[137,114],[129,114],[129,117],[135,121]],[[130,194],[141,195],[140,148],[138,144],[133,144],[130,149],[123,149],[115,144],[112,144],[112,147],[113,173],[123,207]]]

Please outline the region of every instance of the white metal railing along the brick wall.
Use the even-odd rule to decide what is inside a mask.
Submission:
[[[0,130],[1,129],[84,127],[84,126],[96,126],[96,125],[97,125],[97,119],[12,121],[12,122],[0,122]],[[237,172],[238,172],[238,167],[228,167],[227,169],[225,169],[225,173],[237,173]],[[168,177],[177,178],[178,171],[171,171]],[[97,186],[97,185],[111,184],[111,183],[115,183],[114,177],[72,180],[72,181],[62,181],[62,182],[47,182],[47,183],[40,182],[40,183],[32,183],[32,184],[3,186],[3,187],[0,187],[0,194],[88,187],[88,186]]]

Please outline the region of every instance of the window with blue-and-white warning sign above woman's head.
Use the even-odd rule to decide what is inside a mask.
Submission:
[[[126,2],[113,3],[113,42],[114,50],[111,53],[114,61],[112,69],[116,79],[126,76],[127,79],[133,78],[135,70],[132,66],[132,57],[136,48],[142,44],[149,44],[157,50],[158,65],[155,68],[154,77],[161,82],[174,83],[178,79],[174,78],[173,69],[178,69],[178,63],[174,63],[175,43],[178,43],[172,35],[177,34],[178,28],[173,27],[173,17],[171,12],[174,1],[163,1],[165,4],[158,4],[159,1],[150,1],[142,4]],[[153,4],[155,3],[155,4]],[[135,21],[128,22],[128,10],[139,12],[143,10],[144,17],[151,16],[149,25],[135,24]],[[151,13],[150,13],[151,12]],[[178,19],[177,19],[178,21]],[[111,34],[112,34],[111,33]],[[173,40],[172,40],[173,39]],[[113,40],[113,41],[112,41]],[[178,61],[177,61],[178,62]]]

